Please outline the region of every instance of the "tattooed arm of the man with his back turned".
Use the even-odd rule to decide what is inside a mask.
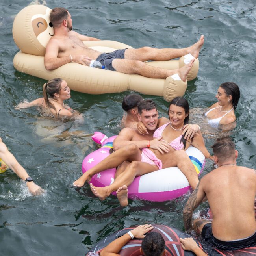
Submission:
[[[197,187],[188,198],[187,203],[183,209],[183,221],[185,230],[189,230],[192,228],[191,221],[193,211],[195,210],[195,208],[197,208],[197,206],[202,202],[202,200],[206,196],[204,190],[202,189],[202,184],[200,185],[201,181],[202,179],[198,182]]]

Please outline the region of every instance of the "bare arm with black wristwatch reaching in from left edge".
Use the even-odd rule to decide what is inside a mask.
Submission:
[[[29,177],[26,170],[18,163],[16,158],[11,154],[6,147],[6,145],[2,142],[0,138],[0,158],[9,166],[9,168],[14,171],[22,180],[26,180]],[[36,185],[33,181],[26,182],[26,185],[33,195],[41,195],[43,193],[43,189]]]

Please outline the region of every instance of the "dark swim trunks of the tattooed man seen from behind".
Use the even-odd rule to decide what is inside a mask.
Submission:
[[[202,237],[206,240],[210,239],[211,244],[219,250],[237,250],[256,245],[256,232],[247,238],[234,241],[221,241],[212,234],[211,223],[206,223],[202,229]]]

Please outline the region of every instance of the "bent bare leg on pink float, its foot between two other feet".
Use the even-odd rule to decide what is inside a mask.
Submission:
[[[126,170],[121,173],[115,181],[106,187],[95,187],[90,183],[91,191],[93,194],[98,197],[100,200],[105,200],[113,191],[116,191],[123,184],[129,186],[136,176],[141,176],[146,173],[151,173],[158,170],[156,165],[150,165],[149,163],[143,163],[141,161],[132,161]]]

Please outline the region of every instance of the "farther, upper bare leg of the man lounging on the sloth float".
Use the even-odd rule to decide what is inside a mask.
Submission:
[[[201,35],[200,39],[194,45],[183,49],[157,49],[151,47],[142,47],[139,49],[127,49],[124,53],[125,59],[140,60],[140,61],[165,61],[170,59],[179,58],[186,54],[192,54],[193,57],[198,58],[199,51],[204,44],[204,36]]]

